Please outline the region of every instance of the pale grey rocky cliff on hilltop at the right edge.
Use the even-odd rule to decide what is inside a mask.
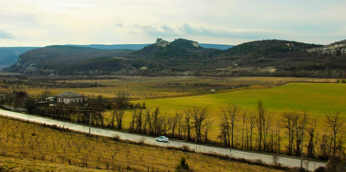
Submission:
[[[335,43],[331,43],[329,45],[325,45],[319,48],[310,48],[306,50],[307,52],[319,52],[320,54],[331,54],[331,55],[346,55],[346,40],[338,41]]]

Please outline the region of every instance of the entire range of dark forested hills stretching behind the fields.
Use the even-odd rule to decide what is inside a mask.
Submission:
[[[217,71],[254,75],[270,68],[274,71],[271,75],[277,73],[278,76],[346,77],[346,54],[342,53],[343,50],[339,54],[307,51],[317,47],[322,45],[275,39],[239,44],[226,50],[204,48],[186,39],[172,42],[157,39],[156,43],[137,51],[47,46],[20,55],[18,65],[13,65],[8,71],[85,75],[95,73],[91,71],[102,74],[118,71],[122,74]]]

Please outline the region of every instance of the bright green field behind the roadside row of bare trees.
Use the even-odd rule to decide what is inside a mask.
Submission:
[[[289,83],[268,89],[239,90],[202,96],[151,99],[145,101],[147,107],[160,106],[170,113],[182,106],[208,106],[213,115],[219,106],[227,102],[240,103],[243,109],[256,110],[257,101],[262,99],[268,112],[274,115],[284,111],[309,110],[313,115],[323,117],[325,112],[339,110],[346,112],[346,84],[341,83]]]

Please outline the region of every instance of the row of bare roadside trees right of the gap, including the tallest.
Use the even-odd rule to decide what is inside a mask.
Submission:
[[[237,103],[227,103],[220,109],[218,138],[224,146],[283,153],[284,144],[286,154],[301,155],[303,138],[309,157],[328,159],[331,154],[345,153],[345,120],[339,111],[326,114],[320,124],[325,129],[320,134],[316,130],[318,119],[307,110],[286,111],[274,120],[261,100],[252,112]]]

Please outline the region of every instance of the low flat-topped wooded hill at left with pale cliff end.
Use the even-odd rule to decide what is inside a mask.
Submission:
[[[122,56],[133,51],[52,45],[20,55],[17,64],[8,71],[72,75],[86,74],[89,70],[120,70],[128,64],[123,63]]]

